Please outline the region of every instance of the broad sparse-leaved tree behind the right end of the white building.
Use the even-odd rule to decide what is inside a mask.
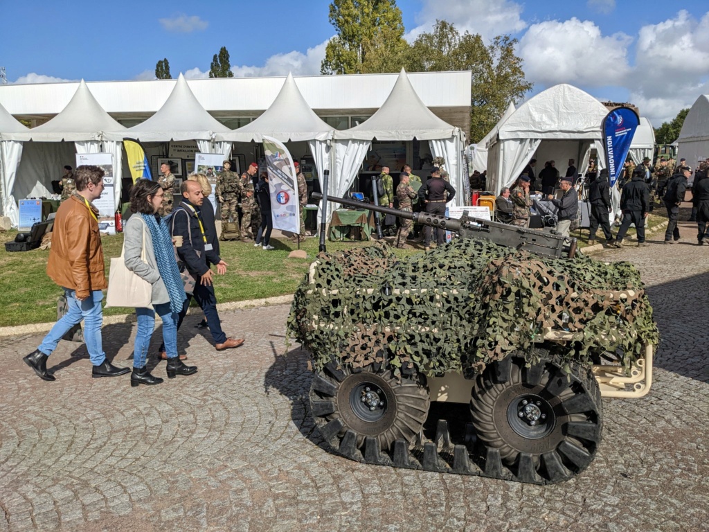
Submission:
[[[515,55],[516,44],[509,35],[498,35],[485,45],[478,34],[460,35],[452,23],[436,21],[406,52],[406,70],[472,71],[469,141],[474,143],[495,126],[511,101],[532,89]]]

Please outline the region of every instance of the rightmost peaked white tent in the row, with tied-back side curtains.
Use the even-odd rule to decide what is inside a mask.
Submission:
[[[334,132],[334,167],[331,194],[345,194],[362,165],[372,140],[428,140],[434,157],[444,157],[445,169],[457,194],[451,205],[463,205],[468,176],[462,175],[464,133],[441,120],[421,101],[402,69],[384,104],[367,121]]]

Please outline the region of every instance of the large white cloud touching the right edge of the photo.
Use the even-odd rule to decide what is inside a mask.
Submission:
[[[631,98],[659,126],[709,92],[709,13],[687,11],[643,26],[637,40]]]

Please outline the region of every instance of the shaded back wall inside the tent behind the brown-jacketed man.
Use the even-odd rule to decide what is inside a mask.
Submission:
[[[49,197],[52,181],[61,179],[65,165],[77,164],[73,142],[26,142],[12,194],[16,199]]]

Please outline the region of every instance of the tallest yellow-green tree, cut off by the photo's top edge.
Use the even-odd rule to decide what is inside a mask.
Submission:
[[[337,35],[325,48],[322,74],[398,72],[396,58],[408,49],[396,0],[333,0],[330,23]],[[371,59],[370,59],[371,57]]]

